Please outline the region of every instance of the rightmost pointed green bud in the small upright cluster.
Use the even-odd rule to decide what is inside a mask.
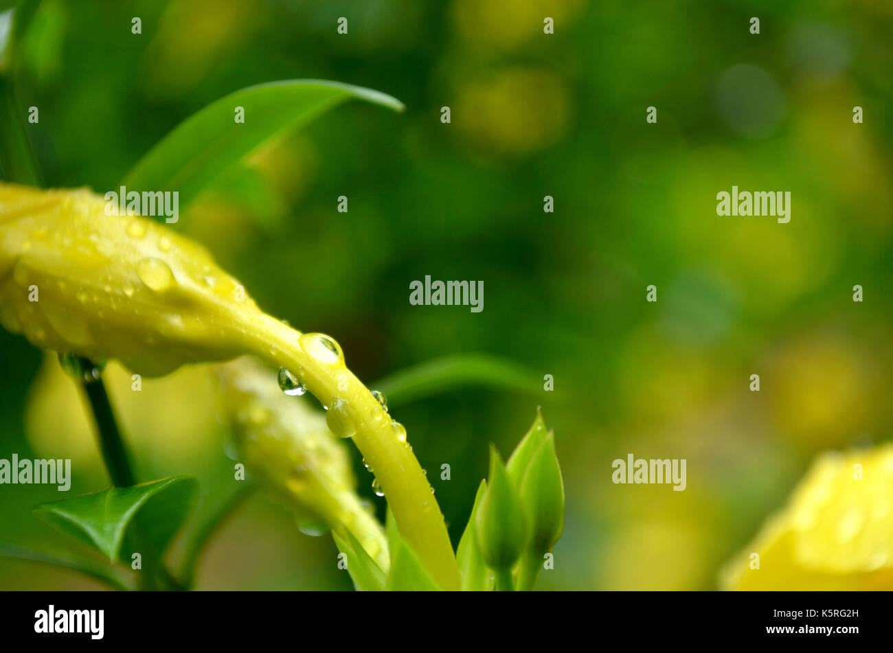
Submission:
[[[530,521],[530,550],[542,558],[555,546],[564,528],[564,483],[553,434],[547,435],[530,460],[520,493]]]

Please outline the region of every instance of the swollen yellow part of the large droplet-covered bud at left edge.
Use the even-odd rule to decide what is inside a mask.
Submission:
[[[0,185],[0,322],[44,349],[120,359],[145,376],[241,353],[260,314],[204,247],[109,216],[87,190]]]

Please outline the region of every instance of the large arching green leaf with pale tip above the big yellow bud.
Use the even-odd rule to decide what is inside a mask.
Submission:
[[[351,98],[404,108],[390,95],[319,79],[242,88],[180,123],[138,161],[122,185],[138,192],[178,191],[179,211],[184,211],[230,165]],[[245,109],[244,123],[235,121],[236,107]]]

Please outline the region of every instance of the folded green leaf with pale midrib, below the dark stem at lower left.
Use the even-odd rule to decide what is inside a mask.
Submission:
[[[95,547],[109,560],[119,559],[121,544],[145,542],[146,556],[160,555],[187,517],[196,497],[192,476],[171,476],[130,487],[44,503],[34,514],[62,533]],[[128,560],[129,561],[129,560]]]

